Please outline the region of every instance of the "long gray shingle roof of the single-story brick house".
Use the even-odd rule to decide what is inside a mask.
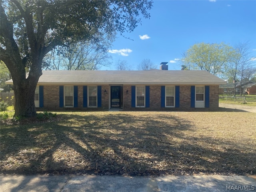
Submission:
[[[226,82],[203,70],[59,70],[43,71],[38,84],[226,84]]]

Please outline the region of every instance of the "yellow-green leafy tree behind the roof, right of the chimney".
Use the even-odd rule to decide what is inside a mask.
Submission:
[[[181,61],[189,70],[206,70],[220,76],[224,65],[230,60],[232,51],[232,47],[224,43],[199,43],[184,52]]]

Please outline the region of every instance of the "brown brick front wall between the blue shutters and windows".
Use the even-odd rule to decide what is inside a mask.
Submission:
[[[106,90],[106,93],[104,92]],[[128,90],[128,93],[126,93]],[[102,107],[83,108],[83,86],[78,86],[78,108],[59,107],[59,86],[44,86],[44,109],[47,110],[107,110],[109,109],[110,90],[108,85],[102,85]],[[123,108],[124,110],[167,110],[167,111],[200,111],[218,110],[219,86],[210,86],[210,108],[190,108],[190,86],[180,86],[180,107],[161,108],[161,86],[150,86],[150,107],[131,107],[131,86],[123,86]]]

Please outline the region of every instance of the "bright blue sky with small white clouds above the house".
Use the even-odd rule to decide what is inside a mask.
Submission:
[[[116,38],[108,53],[112,66],[101,70],[116,70],[119,59],[134,70],[143,59],[180,70],[182,52],[201,42],[234,46],[249,41],[256,57],[255,0],[155,0],[149,12],[150,19],[124,34],[132,40]]]

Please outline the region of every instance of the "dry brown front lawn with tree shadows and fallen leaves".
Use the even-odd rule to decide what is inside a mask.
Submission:
[[[256,114],[58,112],[1,124],[0,168],[16,174],[255,174]]]

